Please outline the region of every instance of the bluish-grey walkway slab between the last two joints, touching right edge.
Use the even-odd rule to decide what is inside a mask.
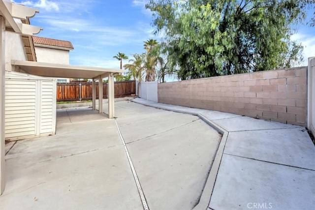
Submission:
[[[315,147],[305,128],[231,132],[224,153],[315,170]]]

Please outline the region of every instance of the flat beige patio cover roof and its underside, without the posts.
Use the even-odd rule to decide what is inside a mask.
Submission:
[[[94,79],[98,76],[108,77],[109,73],[123,73],[123,69],[76,66],[59,63],[11,60],[11,64],[20,67],[25,73],[42,77]]]

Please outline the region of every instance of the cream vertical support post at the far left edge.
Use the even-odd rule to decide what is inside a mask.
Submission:
[[[0,195],[5,186],[5,159],[4,159],[4,94],[5,94],[5,19],[0,16]]]

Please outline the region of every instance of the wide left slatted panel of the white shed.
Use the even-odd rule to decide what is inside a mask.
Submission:
[[[36,81],[5,81],[5,138],[36,134]]]

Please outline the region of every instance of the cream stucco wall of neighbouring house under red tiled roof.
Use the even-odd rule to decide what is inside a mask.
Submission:
[[[69,64],[69,51],[35,46],[38,62]]]

